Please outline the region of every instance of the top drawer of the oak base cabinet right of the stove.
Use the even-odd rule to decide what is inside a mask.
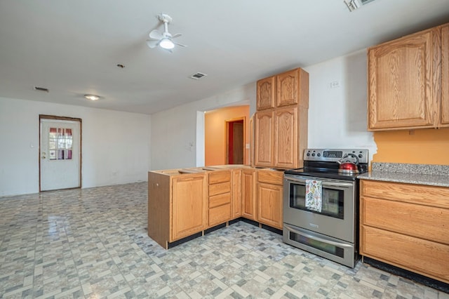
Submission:
[[[361,196],[449,208],[449,188],[361,180]]]

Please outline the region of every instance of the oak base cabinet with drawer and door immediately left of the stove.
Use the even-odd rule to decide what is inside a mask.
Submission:
[[[283,171],[257,171],[257,220],[282,230]]]

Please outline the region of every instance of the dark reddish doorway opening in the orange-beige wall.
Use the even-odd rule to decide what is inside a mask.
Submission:
[[[245,164],[245,118],[226,121],[226,164]]]

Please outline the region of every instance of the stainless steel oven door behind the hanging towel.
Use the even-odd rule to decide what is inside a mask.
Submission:
[[[321,182],[321,211],[307,207],[307,180]],[[355,191],[354,181],[284,175],[283,222],[354,243]]]

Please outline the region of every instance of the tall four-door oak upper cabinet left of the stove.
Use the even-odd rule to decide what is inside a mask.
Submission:
[[[302,166],[302,152],[307,147],[308,106],[309,74],[303,69],[257,81],[255,166],[283,169]]]

